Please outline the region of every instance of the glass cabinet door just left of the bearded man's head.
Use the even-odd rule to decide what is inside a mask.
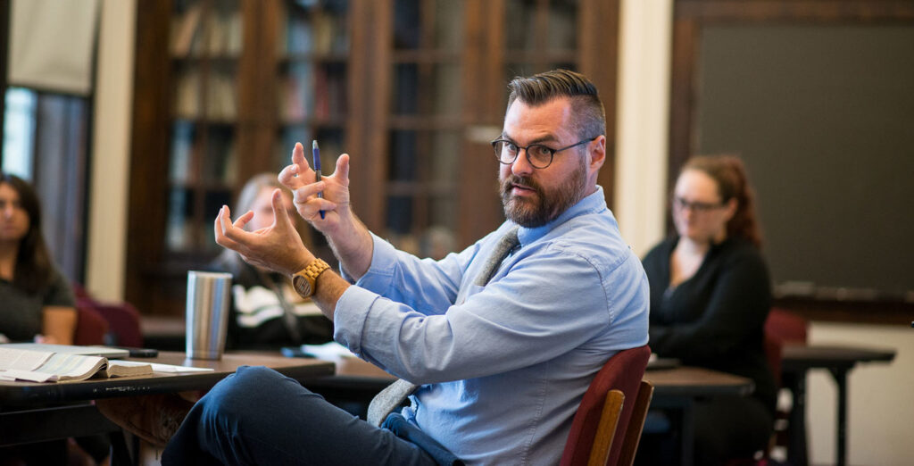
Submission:
[[[396,0],[386,234],[439,259],[455,247],[464,96],[462,1]]]

